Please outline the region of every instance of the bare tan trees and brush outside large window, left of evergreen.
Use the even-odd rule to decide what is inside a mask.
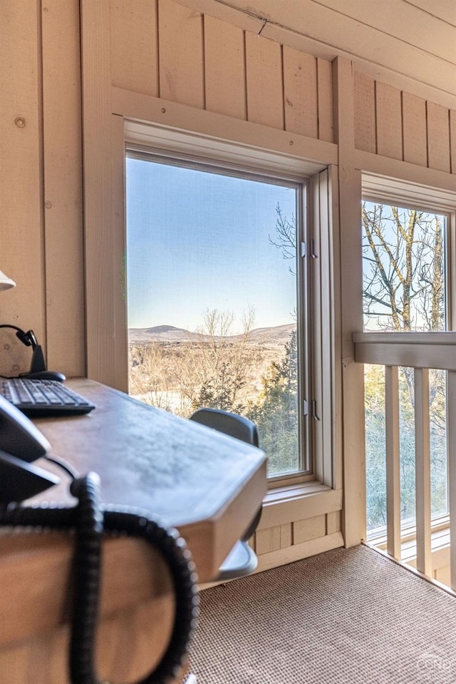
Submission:
[[[242,411],[262,360],[250,337],[254,321],[249,307],[236,332],[231,311],[208,309],[189,342],[132,347],[130,394],[183,417],[201,406]]]

